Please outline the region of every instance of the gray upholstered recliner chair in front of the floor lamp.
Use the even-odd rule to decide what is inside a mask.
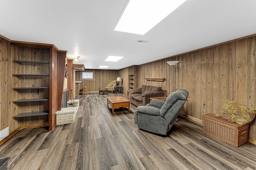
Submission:
[[[145,131],[167,135],[187,98],[188,91],[182,89],[172,92],[166,101],[154,99],[146,106],[138,106],[134,122]]]

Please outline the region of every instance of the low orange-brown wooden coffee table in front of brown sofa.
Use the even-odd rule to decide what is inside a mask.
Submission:
[[[108,104],[112,107],[112,114],[114,114],[114,109],[118,109],[119,107],[128,107],[128,111],[130,112],[130,100],[122,96],[108,97],[107,106]]]

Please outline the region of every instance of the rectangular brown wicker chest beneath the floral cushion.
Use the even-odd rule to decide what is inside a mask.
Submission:
[[[238,125],[226,121],[215,114],[202,115],[204,133],[239,147],[248,141],[249,123]]]

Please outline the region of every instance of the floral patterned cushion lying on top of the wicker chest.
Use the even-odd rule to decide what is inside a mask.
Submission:
[[[220,113],[216,114],[230,122],[236,122],[238,125],[244,125],[251,122],[256,115],[256,109],[244,106],[238,102],[227,99]]]

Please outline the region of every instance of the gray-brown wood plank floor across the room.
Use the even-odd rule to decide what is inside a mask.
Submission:
[[[24,129],[0,147],[9,170],[252,170],[256,145],[234,147],[203,133],[202,126],[179,117],[168,136],[138,129],[134,111],[107,108],[108,96],[78,96],[75,122],[54,131]],[[126,96],[124,96],[126,97]]]

